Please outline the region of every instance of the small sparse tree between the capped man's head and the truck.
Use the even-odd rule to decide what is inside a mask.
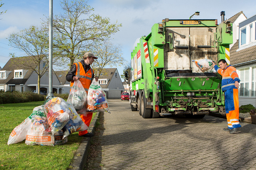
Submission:
[[[101,45],[94,46],[90,51],[92,51],[94,56],[98,57],[98,59],[92,63],[92,68],[100,67],[99,74],[102,69],[107,66],[112,68],[121,66],[126,62],[120,44],[114,45],[110,41],[103,41]]]

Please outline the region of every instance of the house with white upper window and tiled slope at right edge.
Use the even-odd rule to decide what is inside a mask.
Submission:
[[[238,39],[230,48],[230,64],[241,80],[239,106],[252,104],[256,107],[256,15],[239,22],[237,31]]]

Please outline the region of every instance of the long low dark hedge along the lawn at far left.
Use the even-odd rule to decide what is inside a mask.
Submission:
[[[43,101],[44,96],[32,92],[6,91],[0,92],[0,104],[24,103],[29,101]]]

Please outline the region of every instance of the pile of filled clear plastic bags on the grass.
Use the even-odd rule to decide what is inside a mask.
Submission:
[[[12,130],[7,144],[26,139],[28,145],[54,146],[68,142],[69,134],[86,129],[73,105],[54,97],[45,105],[35,107],[32,114]]]

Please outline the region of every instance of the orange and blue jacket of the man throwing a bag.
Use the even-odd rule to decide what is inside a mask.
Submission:
[[[220,75],[222,76],[222,91],[226,91],[228,89],[237,89],[235,86],[235,81],[239,83],[240,79],[238,78],[238,74],[236,73],[235,67],[229,65],[225,70],[222,70],[217,65],[215,65],[214,69],[218,71],[218,73],[220,73]]]

